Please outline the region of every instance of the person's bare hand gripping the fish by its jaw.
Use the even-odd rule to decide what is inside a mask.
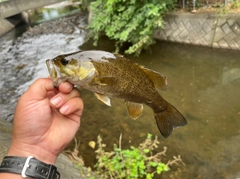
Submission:
[[[83,111],[79,92],[68,82],[36,80],[20,97],[13,122],[11,156],[34,156],[53,164],[75,136]]]

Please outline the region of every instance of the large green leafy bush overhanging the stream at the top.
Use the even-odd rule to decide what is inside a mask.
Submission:
[[[97,44],[103,32],[116,40],[116,52],[124,42],[132,45],[127,54],[139,55],[155,41],[156,28],[163,28],[163,16],[174,7],[176,0],[96,0],[91,3],[92,20],[88,25],[89,37]]]

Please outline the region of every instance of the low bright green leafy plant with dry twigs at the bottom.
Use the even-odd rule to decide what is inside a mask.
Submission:
[[[106,144],[102,143],[102,138],[98,136],[97,163],[95,165],[96,172],[102,179],[152,179],[155,174],[161,174],[169,170],[169,166],[182,163],[180,156],[174,157],[172,161],[166,164],[161,161],[163,155],[166,154],[167,147],[162,152],[153,154],[153,150],[158,147],[158,140],[152,135],[148,135],[143,143],[137,148],[131,146],[130,149],[123,150],[121,148],[121,136],[119,146],[114,144],[111,152],[106,152],[104,148]]]

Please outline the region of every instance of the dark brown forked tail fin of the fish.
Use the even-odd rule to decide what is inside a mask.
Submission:
[[[167,108],[164,111],[155,113],[155,119],[159,131],[165,138],[172,133],[174,128],[187,124],[183,115],[170,103],[167,103]]]

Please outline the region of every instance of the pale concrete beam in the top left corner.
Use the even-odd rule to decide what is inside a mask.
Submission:
[[[10,0],[0,3],[0,13],[3,17],[10,17],[22,11],[35,9],[64,0]]]

